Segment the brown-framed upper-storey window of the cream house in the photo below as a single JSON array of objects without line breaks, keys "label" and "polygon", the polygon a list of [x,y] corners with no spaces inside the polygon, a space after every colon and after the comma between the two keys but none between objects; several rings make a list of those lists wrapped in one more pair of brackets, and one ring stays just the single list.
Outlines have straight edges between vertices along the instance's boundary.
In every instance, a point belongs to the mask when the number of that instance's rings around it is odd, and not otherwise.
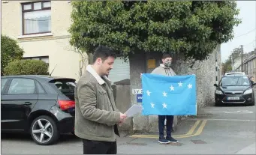
[{"label": "brown-framed upper-storey window of the cream house", "polygon": [[23,35],[51,32],[51,3],[37,1],[23,3]]}]

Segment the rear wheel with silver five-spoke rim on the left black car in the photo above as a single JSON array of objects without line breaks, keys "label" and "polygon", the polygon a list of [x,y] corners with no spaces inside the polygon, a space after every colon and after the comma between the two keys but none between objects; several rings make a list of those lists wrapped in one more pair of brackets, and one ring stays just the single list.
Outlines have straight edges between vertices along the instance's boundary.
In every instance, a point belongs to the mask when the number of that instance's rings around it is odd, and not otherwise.
[{"label": "rear wheel with silver five-spoke rim on the left black car", "polygon": [[59,139],[56,122],[46,115],[35,118],[31,124],[30,134],[38,145],[52,145]]}]

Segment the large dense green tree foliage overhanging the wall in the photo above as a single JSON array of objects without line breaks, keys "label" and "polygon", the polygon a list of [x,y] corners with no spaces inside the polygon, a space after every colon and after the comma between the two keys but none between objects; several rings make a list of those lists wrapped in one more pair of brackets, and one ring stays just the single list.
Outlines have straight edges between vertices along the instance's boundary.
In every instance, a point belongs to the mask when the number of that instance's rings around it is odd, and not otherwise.
[{"label": "large dense green tree foliage overhanging the wall", "polygon": [[72,46],[92,53],[102,44],[124,57],[173,52],[203,60],[233,38],[240,22],[235,1],[72,1],[72,7]]}]

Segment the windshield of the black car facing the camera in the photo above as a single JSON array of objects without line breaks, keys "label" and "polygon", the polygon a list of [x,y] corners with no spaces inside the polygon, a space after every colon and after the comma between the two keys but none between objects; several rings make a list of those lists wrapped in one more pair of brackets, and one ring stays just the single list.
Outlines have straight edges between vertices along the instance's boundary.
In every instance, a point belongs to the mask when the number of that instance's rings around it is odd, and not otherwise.
[{"label": "windshield of the black car facing the camera", "polygon": [[226,76],[221,79],[221,86],[250,85],[246,76]]}]

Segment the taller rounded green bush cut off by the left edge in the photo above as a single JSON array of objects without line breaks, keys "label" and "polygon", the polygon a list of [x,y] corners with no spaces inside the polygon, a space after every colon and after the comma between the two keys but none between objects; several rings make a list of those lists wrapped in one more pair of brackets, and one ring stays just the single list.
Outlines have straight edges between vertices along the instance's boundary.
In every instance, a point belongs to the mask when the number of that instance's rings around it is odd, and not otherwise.
[{"label": "taller rounded green bush cut off by the left edge", "polygon": [[16,40],[1,34],[1,76],[8,63],[23,58],[23,53]]}]

